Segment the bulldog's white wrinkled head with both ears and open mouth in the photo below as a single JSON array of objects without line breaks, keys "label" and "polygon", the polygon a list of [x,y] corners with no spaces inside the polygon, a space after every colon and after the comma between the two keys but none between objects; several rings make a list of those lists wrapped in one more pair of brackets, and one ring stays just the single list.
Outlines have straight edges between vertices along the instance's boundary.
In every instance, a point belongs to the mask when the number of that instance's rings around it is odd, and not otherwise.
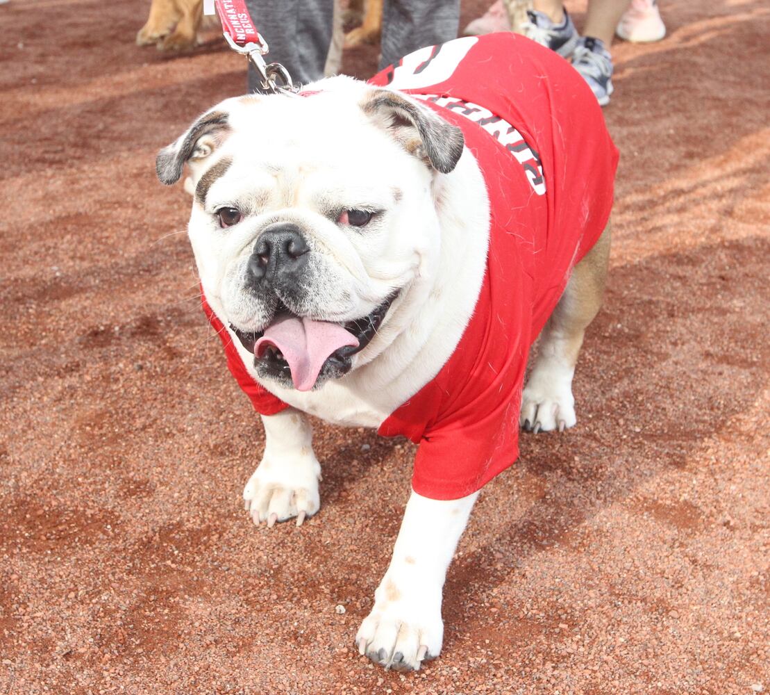
[{"label": "bulldog's white wrinkled head with both ears and open mouth", "polygon": [[157,162],[163,183],[190,165],[209,302],[261,377],[301,391],[350,371],[393,301],[430,281],[436,175],[463,149],[459,129],[403,96],[344,78],[316,89],[227,99]]}]

